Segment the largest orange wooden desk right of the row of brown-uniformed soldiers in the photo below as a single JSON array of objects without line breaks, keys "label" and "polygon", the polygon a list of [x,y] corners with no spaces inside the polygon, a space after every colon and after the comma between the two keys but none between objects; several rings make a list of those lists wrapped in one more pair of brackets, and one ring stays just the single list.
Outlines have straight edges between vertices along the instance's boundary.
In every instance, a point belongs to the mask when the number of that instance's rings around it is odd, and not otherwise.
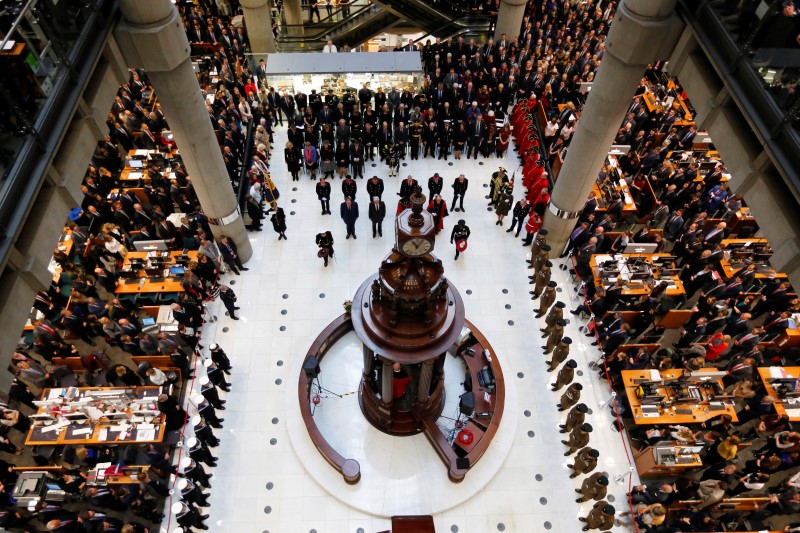
[{"label": "largest orange wooden desk right of the row of brown-uniformed soldiers", "polygon": [[[703,368],[702,371],[704,372],[716,372],[716,368]],[[661,379],[677,379],[681,375],[683,375],[683,370],[681,369],[674,369],[674,370],[664,370],[661,371]],[[734,422],[737,422],[739,419],[736,416],[736,410],[734,409],[733,405],[725,404],[725,409],[720,409],[719,411],[711,411],[708,409],[708,393],[705,391],[704,388],[699,387],[699,390],[702,393],[702,401],[699,403],[686,403],[686,404],[676,404],[672,405],[671,407],[660,407],[659,409],[659,416],[644,416],[642,414],[642,402],[639,398],[636,397],[636,388],[639,386],[637,383],[634,383],[634,380],[650,380],[650,371],[649,370],[623,370],[622,371],[622,383],[625,387],[625,394],[628,396],[628,402],[631,405],[631,410],[633,411],[633,419],[637,425],[652,425],[652,424],[700,424],[702,422],[706,422],[711,420],[712,418],[716,418],[721,415],[730,415]],[[722,384],[721,380],[719,381]],[[666,396],[667,399],[672,399],[674,396],[674,392],[672,389],[667,387],[659,387],[658,394],[662,396]],[[688,409],[691,410],[691,413],[679,413],[677,409]]]}]

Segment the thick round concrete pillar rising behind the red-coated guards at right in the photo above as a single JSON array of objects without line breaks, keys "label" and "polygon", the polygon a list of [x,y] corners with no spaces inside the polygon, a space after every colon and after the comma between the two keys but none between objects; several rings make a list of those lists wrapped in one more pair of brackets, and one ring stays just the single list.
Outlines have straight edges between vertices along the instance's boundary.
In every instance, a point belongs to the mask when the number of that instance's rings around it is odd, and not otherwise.
[{"label": "thick round concrete pillar rising behind the red-coated guards at right", "polygon": [[670,57],[680,38],[683,22],[674,12],[676,1],[624,0],[619,5],[603,64],[581,111],[550,197],[550,212],[544,218],[548,244],[559,253],[586,203],[647,65]]}]

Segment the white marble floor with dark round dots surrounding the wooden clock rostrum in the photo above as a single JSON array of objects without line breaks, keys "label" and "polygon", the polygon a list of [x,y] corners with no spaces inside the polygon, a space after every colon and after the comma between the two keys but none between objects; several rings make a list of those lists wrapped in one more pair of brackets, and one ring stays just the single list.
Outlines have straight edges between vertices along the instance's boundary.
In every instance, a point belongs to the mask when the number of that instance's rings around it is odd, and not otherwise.
[{"label": "white marble floor with dark round dots surrounding the wooden clock rostrum", "polygon": [[[358,239],[345,240],[344,224],[336,215],[343,200],[340,181],[333,182],[334,215],[321,216],[315,182],[307,177],[299,183],[292,182],[286,173],[282,157],[285,141],[285,128],[278,128],[271,170],[281,193],[279,204],[289,215],[289,240],[278,241],[269,221],[263,232],[250,233],[254,254],[247,264],[249,272],[225,276],[226,281],[236,282],[232,287],[239,297],[241,320],[230,320],[219,302],[212,303],[210,307],[219,320],[204,332],[203,343],[218,342],[234,364],[228,409],[220,413],[225,416],[224,428],[216,430],[222,443],[214,449],[219,466],[211,469],[214,478],[207,524],[215,532],[237,533],[383,531],[390,527],[388,518],[359,510],[365,508],[361,498],[370,498],[369,493],[354,491],[346,497],[333,496],[330,486],[317,481],[325,479],[332,469],[319,460],[304,464],[294,442],[290,442],[288,431],[297,423],[297,415],[287,398],[293,397],[288,389],[296,384],[308,346],[342,312],[342,302],[351,298],[364,278],[377,269],[391,247],[393,232],[384,232],[382,239],[371,238],[366,180],[359,180],[357,201],[363,214],[357,223]],[[534,302],[528,295],[528,248],[506,233],[510,217],[506,227],[500,228],[495,225],[495,215],[486,208],[491,173],[499,165],[513,172],[518,167],[515,153],[510,152],[502,161],[482,159],[482,165],[474,159],[406,162],[408,166],[401,167],[398,178],[386,178],[382,163],[367,168],[367,176],[377,173],[384,177],[384,200],[390,212],[396,206],[399,182],[407,174],[426,189],[428,177],[439,172],[445,179],[444,197],[448,203],[455,177],[464,173],[470,180],[466,213],[451,213],[445,220],[434,253],[443,260],[446,276],[461,291],[467,317],[493,344],[506,380],[513,381],[516,391],[506,407],[506,416],[515,417],[516,427],[508,451],[494,459],[498,461],[496,475],[480,490],[470,485],[470,475],[464,483],[451,487],[467,496],[462,503],[434,515],[437,530],[579,531],[577,518],[585,515],[591,504],[574,502],[577,495],[573,489],[581,479],[569,479],[565,466],[568,460],[562,455],[562,435],[557,432],[562,418],[556,410],[559,395],[548,387],[553,375],[545,372],[541,354],[538,328],[542,323],[533,317]],[[518,185],[517,196],[522,193]],[[472,236],[469,249],[454,261],[454,249],[447,237],[459,218],[466,219]],[[392,223],[391,217],[387,218],[387,229]],[[316,257],[314,236],[326,229],[333,232],[336,241],[336,260],[323,268]],[[560,283],[559,298],[573,307],[570,299],[574,293],[563,272],[555,269],[553,279]],[[601,452],[599,468],[612,476],[627,473],[621,437],[611,430],[608,410],[598,407],[598,402],[608,399],[608,386],[598,382],[587,367],[588,362],[597,359],[598,352],[589,346],[591,339],[577,331],[578,325],[572,320],[567,335],[574,341],[572,357],[582,371],[577,378],[585,387],[582,401],[592,409],[588,417],[594,427],[591,445]],[[326,380],[334,384],[333,379]],[[418,464],[420,468],[424,466]],[[329,472],[320,473],[316,470],[320,468]],[[449,483],[440,464],[416,474],[429,476],[435,483]],[[610,494],[620,510],[626,488],[627,482],[611,483]],[[409,502],[403,508],[413,512],[415,506]],[[423,508],[418,511],[427,512]]]}]

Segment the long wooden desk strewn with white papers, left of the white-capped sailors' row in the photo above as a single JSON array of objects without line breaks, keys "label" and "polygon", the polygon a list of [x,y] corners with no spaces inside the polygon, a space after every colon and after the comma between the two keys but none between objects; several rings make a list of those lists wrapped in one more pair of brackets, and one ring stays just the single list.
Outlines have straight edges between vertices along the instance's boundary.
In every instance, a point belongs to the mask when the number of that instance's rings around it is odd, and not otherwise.
[{"label": "long wooden desk strewn with white papers, left of the white-capped sailors' row", "polygon": [[[76,399],[79,397],[86,397],[91,396],[92,392],[94,391],[107,391],[113,389],[124,389],[126,387],[82,387],[78,389],[79,393],[76,396]],[[132,387],[135,391],[136,397],[139,399],[144,398],[153,398],[153,403],[156,402],[156,398],[161,390],[160,387]],[[50,391],[54,390],[63,390],[63,389],[44,389],[42,391],[42,398],[47,398],[50,394]],[[101,403],[101,399],[97,398],[97,403]],[[47,412],[46,409],[40,408],[37,411],[37,414],[43,414]],[[126,411],[130,415],[130,411]],[[43,432],[43,429],[46,429],[47,426],[34,426],[28,431],[28,435],[25,439],[26,446],[63,446],[66,444],[84,444],[84,445],[91,445],[91,444],[142,444],[146,442],[161,442],[164,439],[164,434],[166,432],[166,425],[164,424],[164,416],[159,415],[158,418],[154,419],[153,421],[154,429],[155,429],[155,436],[152,439],[144,439],[139,440],[137,439],[138,432],[140,430],[134,429],[132,425],[129,424],[128,430],[124,433],[117,433],[112,432],[111,428],[116,428],[119,424],[114,424],[110,422],[96,422],[92,424],[83,424],[83,425],[76,425],[72,424],[66,426],[64,428]],[[81,430],[84,428],[89,428],[90,432],[85,435],[76,435],[76,430]],[[106,433],[106,438],[103,439],[101,433]]]}]

